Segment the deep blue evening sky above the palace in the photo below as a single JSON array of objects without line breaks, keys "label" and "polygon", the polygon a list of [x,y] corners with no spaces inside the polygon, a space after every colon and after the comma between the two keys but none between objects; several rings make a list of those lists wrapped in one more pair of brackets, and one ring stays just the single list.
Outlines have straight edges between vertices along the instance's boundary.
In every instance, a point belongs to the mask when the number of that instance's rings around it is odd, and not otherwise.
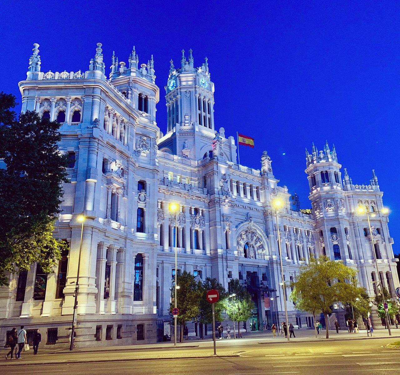
[{"label": "deep blue evening sky above the palace", "polygon": [[327,139],[355,184],[376,170],[400,241],[399,6],[284,3],[3,1],[0,90],[20,100],[34,42],[44,72],[87,70],[102,42],[108,73],[112,50],[127,62],[135,45],[140,64],[154,54],[165,132],[169,60],[178,65],[180,50],[192,48],[195,65],[208,57],[216,128],[255,138],[254,149],[241,148],[242,164],[260,168],[266,149],[275,176],[309,207],[304,148],[314,141],[322,149]]}]

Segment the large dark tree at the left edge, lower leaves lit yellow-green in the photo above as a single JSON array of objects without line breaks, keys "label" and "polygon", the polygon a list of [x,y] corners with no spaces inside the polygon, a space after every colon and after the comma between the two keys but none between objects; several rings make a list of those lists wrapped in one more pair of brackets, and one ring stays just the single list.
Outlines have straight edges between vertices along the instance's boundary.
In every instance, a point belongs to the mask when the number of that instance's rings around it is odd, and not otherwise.
[{"label": "large dark tree at the left edge, lower leaves lit yellow-green", "polygon": [[51,273],[67,247],[52,236],[67,182],[60,124],[30,111],[17,118],[15,106],[14,96],[0,93],[0,285],[8,283],[6,271],[34,262]]}]

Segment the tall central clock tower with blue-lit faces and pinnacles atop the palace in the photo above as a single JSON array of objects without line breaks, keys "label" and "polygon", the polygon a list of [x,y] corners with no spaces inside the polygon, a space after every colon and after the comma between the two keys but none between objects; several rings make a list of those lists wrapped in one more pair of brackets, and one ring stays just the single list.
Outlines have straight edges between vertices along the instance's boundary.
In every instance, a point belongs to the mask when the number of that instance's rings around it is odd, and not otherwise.
[{"label": "tall central clock tower with blue-lit faces and pinnacles atop the palace", "polygon": [[212,150],[214,131],[214,83],[210,80],[208,59],[194,67],[192,50],[188,60],[182,50],[180,68],[170,61],[165,86],[167,132],[158,148],[178,156],[201,159]]}]

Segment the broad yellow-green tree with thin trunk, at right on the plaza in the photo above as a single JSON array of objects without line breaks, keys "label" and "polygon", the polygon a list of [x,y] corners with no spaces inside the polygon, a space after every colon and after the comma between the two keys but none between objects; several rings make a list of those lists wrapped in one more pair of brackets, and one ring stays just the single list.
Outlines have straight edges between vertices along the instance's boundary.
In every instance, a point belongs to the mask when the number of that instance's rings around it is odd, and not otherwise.
[{"label": "broad yellow-green tree with thin trunk, at right on the plaza", "polygon": [[356,274],[357,271],[341,261],[325,256],[318,259],[312,257],[308,264],[300,266],[296,280],[289,283],[293,288],[290,298],[297,309],[324,314],[327,339],[328,314],[332,312],[332,305],[354,302],[364,290],[358,287]]}]

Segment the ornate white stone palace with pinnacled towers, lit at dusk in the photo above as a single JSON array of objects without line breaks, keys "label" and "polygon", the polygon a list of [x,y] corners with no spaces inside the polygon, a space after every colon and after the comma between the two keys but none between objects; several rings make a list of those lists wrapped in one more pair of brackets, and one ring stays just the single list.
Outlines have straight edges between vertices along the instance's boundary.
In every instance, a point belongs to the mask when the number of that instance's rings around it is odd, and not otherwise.
[{"label": "ornate white stone palace with pinnacled towers, lit at dusk", "polygon": [[[312,209],[292,209],[291,194],[279,186],[267,152],[260,156],[260,170],[239,165],[235,138],[224,128],[215,130],[207,58],[196,67],[192,50],[187,59],[182,50],[179,66],[170,62],[163,134],[156,123],[160,91],[152,56],[139,64],[133,48],[125,63],[113,53],[106,76],[98,43],[88,70],[44,73],[38,47],[34,44],[27,78],[19,83],[22,112],[35,110],[62,124],[59,148],[68,155],[69,183],[54,235],[68,241],[70,250],[52,274],[33,264],[9,275],[9,287],[0,288],[0,345],[6,331],[21,324],[28,333],[40,328],[48,345],[68,342],[82,213],[78,345],[161,341],[164,328],[170,329],[175,272],[170,202],[179,205],[178,272],[202,280],[216,277],[226,289],[238,278],[255,303],[248,330],[254,321],[256,329],[276,322],[276,311],[278,320],[284,319],[271,206],[276,197],[284,201],[278,223],[286,281],[310,254],[326,254],[357,269],[371,296],[372,281],[379,279],[395,298],[398,259],[374,171],[367,184],[353,184],[346,169],[342,176],[334,146],[317,150],[313,145],[305,170]],[[366,216],[356,214],[360,204],[371,213],[379,275]],[[280,297],[269,299],[276,294]],[[312,327],[310,313],[296,311],[290,300],[287,304],[290,322]],[[333,321],[343,319],[343,308],[334,307]],[[377,319],[374,323],[381,326]],[[209,335],[211,325],[190,324],[192,335],[200,336],[200,330]]]}]

